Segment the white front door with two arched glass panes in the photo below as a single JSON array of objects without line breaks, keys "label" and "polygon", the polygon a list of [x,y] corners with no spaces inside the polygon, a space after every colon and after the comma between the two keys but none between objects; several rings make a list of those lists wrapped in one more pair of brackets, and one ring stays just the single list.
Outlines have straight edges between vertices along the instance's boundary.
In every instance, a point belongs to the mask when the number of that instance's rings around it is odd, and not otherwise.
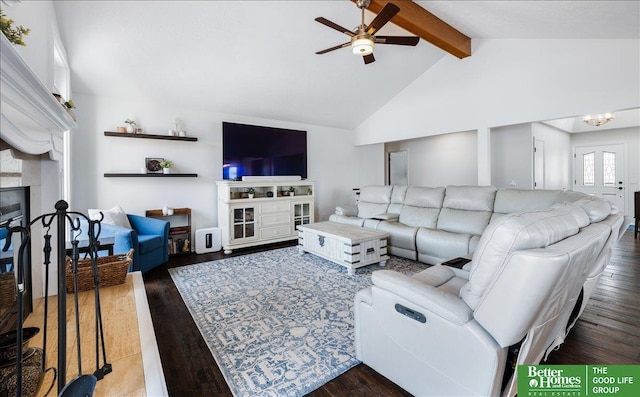
[{"label": "white front door with two arched glass panes", "polygon": [[574,160],[574,190],[607,199],[624,213],[624,145],[576,147]]}]

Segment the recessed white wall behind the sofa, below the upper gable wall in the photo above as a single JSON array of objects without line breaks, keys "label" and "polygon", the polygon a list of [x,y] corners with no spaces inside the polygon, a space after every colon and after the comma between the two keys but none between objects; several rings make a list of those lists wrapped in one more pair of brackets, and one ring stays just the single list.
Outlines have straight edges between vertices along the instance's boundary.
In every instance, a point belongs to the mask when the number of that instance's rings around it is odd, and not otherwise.
[{"label": "recessed white wall behind the sofa, below the upper gable wall", "polygon": [[389,142],[385,150],[407,151],[411,186],[476,185],[476,138],[475,131],[458,132]]}]

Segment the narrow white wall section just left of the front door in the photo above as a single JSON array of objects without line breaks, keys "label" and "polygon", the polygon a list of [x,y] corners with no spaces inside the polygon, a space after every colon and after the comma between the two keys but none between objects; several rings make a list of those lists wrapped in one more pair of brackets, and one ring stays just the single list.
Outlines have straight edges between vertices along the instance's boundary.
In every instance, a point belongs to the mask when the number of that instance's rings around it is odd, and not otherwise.
[{"label": "narrow white wall section just left of the front door", "polygon": [[544,142],[544,188],[570,190],[571,137],[568,132],[541,123],[531,124],[533,139]]}]

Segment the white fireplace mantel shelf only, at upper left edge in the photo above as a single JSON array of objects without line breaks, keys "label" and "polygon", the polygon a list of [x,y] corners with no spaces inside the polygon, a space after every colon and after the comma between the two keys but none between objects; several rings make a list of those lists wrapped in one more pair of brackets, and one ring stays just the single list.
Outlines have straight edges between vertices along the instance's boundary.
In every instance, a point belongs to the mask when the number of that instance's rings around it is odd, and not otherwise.
[{"label": "white fireplace mantel shelf only, at upper left edge", "polygon": [[77,124],[3,34],[0,58],[0,136],[21,152],[60,160],[63,133]]}]

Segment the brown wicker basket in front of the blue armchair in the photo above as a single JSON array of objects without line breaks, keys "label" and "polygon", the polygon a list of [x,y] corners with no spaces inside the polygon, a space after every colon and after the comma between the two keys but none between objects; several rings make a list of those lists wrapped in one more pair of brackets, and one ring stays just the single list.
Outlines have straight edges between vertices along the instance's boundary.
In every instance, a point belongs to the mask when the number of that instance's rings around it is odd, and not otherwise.
[{"label": "brown wicker basket in front of the blue armchair", "polygon": [[[133,258],[133,249],[126,254],[98,257],[98,276],[100,288],[124,283]],[[78,291],[87,291],[95,287],[91,258],[78,259]],[[67,256],[67,293],[73,293],[73,273],[71,258]]]}]

